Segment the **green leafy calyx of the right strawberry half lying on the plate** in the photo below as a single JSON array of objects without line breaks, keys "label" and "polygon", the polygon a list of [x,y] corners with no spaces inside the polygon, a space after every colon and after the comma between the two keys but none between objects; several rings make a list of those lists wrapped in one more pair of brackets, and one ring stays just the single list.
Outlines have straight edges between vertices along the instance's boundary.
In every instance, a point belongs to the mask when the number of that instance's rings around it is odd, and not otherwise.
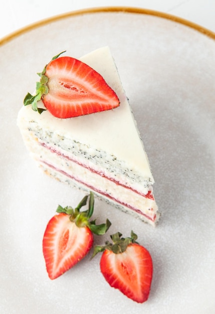
[{"label": "green leafy calyx of the right strawberry half lying on the plate", "polygon": [[120,232],[116,232],[110,235],[112,239],[112,243],[110,241],[106,241],[105,245],[97,245],[94,248],[94,252],[92,258],[99,252],[104,252],[105,250],[112,251],[115,254],[123,253],[126,251],[127,246],[131,243],[137,243],[137,235],[131,231],[131,236],[127,238],[121,238],[122,234]]}]

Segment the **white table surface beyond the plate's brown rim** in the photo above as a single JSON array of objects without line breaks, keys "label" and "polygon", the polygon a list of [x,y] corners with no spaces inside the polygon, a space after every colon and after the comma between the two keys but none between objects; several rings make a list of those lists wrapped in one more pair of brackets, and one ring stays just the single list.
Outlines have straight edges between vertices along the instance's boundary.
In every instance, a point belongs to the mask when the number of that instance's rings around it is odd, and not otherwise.
[{"label": "white table surface beyond the plate's brown rim", "polygon": [[126,6],[161,11],[215,32],[214,0],[8,0],[0,10],[0,38],[37,21],[86,8]]}]

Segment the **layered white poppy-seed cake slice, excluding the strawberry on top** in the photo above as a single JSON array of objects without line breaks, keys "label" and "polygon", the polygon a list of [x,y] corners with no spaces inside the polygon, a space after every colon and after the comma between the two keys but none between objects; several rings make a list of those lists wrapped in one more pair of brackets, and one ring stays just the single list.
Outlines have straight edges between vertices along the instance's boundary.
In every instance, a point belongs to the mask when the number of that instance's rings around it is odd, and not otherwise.
[{"label": "layered white poppy-seed cake slice, excluding the strawberry on top", "polygon": [[[154,179],[110,50],[103,47],[80,60],[102,75],[120,106],[67,119],[23,106],[18,126],[24,142],[47,174],[155,225]],[[39,106],[44,107],[41,100]]]}]

